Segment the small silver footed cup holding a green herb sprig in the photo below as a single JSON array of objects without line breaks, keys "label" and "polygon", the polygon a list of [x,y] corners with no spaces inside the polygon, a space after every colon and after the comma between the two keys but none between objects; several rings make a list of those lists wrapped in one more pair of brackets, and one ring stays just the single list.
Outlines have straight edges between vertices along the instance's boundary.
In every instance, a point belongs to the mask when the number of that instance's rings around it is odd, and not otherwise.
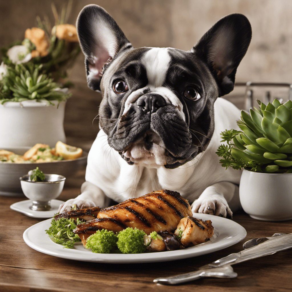
[{"label": "small silver footed cup holding a green herb sprig", "polygon": [[32,200],[29,207],[34,211],[48,211],[51,209],[50,201],[61,194],[65,177],[58,174],[45,174],[46,181],[29,181],[29,174],[20,177],[20,184],[25,197]]}]

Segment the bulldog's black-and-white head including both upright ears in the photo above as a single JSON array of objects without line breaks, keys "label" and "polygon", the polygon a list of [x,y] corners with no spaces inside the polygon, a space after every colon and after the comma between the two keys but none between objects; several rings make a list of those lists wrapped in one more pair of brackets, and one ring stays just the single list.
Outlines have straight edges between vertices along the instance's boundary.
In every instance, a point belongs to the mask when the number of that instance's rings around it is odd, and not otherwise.
[{"label": "bulldog's black-and-white head including both upright ears", "polygon": [[219,20],[191,51],[133,48],[102,8],[86,6],[77,30],[88,85],[100,90],[100,127],[128,164],[178,167],[204,151],[213,104],[234,86],[251,39],[239,14]]}]

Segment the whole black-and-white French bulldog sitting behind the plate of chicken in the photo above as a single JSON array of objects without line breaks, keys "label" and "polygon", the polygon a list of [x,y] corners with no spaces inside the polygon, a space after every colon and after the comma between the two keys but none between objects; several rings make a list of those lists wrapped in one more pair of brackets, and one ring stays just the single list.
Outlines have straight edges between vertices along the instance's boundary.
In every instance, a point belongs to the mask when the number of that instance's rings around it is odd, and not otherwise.
[{"label": "whole black-and-white French bulldog sitting behind the plate of chicken", "polygon": [[223,168],[215,152],[220,132],[237,129],[240,117],[220,96],[234,88],[251,41],[248,19],[225,16],[190,51],[133,48],[97,5],[82,9],[76,27],[88,86],[102,93],[100,131],[81,194],[59,212],[169,189],[193,212],[231,217],[240,206],[241,172]]}]

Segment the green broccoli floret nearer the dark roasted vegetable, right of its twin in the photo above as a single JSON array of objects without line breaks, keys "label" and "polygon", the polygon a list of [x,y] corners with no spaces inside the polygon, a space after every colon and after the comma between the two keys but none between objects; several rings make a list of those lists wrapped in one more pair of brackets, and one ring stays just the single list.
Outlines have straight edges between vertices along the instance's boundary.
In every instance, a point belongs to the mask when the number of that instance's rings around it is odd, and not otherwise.
[{"label": "green broccoli floret nearer the dark roasted vegetable, right of its twin", "polygon": [[146,250],[144,235],[143,230],[127,227],[117,235],[117,246],[122,253],[143,253]]}]

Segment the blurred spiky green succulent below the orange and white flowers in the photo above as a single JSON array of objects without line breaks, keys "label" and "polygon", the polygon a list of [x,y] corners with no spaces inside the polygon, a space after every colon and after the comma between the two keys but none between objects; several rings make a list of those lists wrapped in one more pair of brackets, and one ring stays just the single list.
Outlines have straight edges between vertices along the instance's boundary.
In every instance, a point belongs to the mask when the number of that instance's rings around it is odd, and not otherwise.
[{"label": "blurred spiky green succulent below the orange and white flowers", "polygon": [[[0,102],[41,100],[63,101],[70,94],[58,91],[59,84],[42,73],[42,65],[32,62],[8,67],[7,74],[0,81]],[[13,98],[11,98],[13,96]]]}]

